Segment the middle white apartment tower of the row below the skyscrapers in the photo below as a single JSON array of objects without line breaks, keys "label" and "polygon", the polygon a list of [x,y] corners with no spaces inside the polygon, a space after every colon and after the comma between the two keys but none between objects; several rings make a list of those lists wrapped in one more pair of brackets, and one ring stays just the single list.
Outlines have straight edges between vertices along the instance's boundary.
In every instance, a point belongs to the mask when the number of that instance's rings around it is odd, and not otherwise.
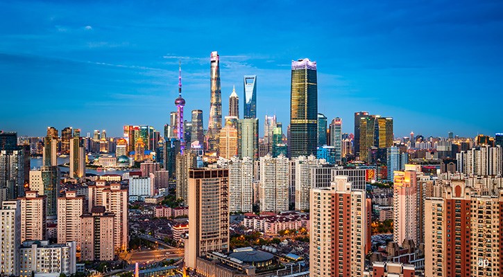
[{"label": "middle white apartment tower of the row below the skyscrapers", "polygon": [[284,155],[260,157],[260,211],[288,211],[289,160]]}]

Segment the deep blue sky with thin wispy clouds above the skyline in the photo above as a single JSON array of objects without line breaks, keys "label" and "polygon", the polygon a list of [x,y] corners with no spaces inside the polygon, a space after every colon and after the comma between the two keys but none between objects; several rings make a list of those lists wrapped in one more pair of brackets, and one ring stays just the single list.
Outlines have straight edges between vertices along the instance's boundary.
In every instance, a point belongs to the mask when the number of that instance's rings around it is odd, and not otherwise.
[{"label": "deep blue sky with thin wispy clouds above the skyline", "polygon": [[207,127],[219,51],[224,116],[256,74],[259,124],[286,126],[291,60],[309,57],[318,111],[344,132],[355,111],[393,116],[395,136],[503,131],[502,1],[352,2],[1,1],[0,129],[162,132],[178,60],[186,114],[203,109]]}]

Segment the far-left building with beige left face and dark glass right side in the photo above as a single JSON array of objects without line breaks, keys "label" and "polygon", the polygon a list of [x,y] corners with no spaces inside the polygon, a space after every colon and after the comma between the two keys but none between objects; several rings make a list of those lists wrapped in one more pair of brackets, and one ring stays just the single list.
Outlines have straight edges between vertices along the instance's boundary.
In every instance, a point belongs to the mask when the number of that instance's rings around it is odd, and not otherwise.
[{"label": "far-left building with beige left face and dark glass right side", "polygon": [[40,170],[30,171],[30,190],[46,196],[46,216],[56,217],[56,200],[60,191],[60,168],[42,166]]}]

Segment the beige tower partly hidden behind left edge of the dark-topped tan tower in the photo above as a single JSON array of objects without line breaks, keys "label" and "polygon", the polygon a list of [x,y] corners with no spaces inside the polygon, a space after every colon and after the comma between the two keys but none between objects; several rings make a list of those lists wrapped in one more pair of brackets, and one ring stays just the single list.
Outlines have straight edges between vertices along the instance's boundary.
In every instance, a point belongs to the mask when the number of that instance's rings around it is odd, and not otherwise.
[{"label": "beige tower partly hidden behind left edge of the dark-topped tan tower", "polygon": [[176,199],[189,205],[189,170],[197,168],[196,154],[185,152],[176,156]]}]

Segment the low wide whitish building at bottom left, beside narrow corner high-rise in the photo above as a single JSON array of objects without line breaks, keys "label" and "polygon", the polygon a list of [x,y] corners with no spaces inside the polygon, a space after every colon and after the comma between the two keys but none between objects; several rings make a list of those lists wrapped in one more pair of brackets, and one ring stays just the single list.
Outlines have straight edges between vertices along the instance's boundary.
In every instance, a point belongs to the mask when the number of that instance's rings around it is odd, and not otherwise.
[{"label": "low wide whitish building at bottom left, beside narrow corner high-rise", "polygon": [[76,242],[29,240],[19,249],[19,276],[71,276],[77,272],[76,261]]}]

